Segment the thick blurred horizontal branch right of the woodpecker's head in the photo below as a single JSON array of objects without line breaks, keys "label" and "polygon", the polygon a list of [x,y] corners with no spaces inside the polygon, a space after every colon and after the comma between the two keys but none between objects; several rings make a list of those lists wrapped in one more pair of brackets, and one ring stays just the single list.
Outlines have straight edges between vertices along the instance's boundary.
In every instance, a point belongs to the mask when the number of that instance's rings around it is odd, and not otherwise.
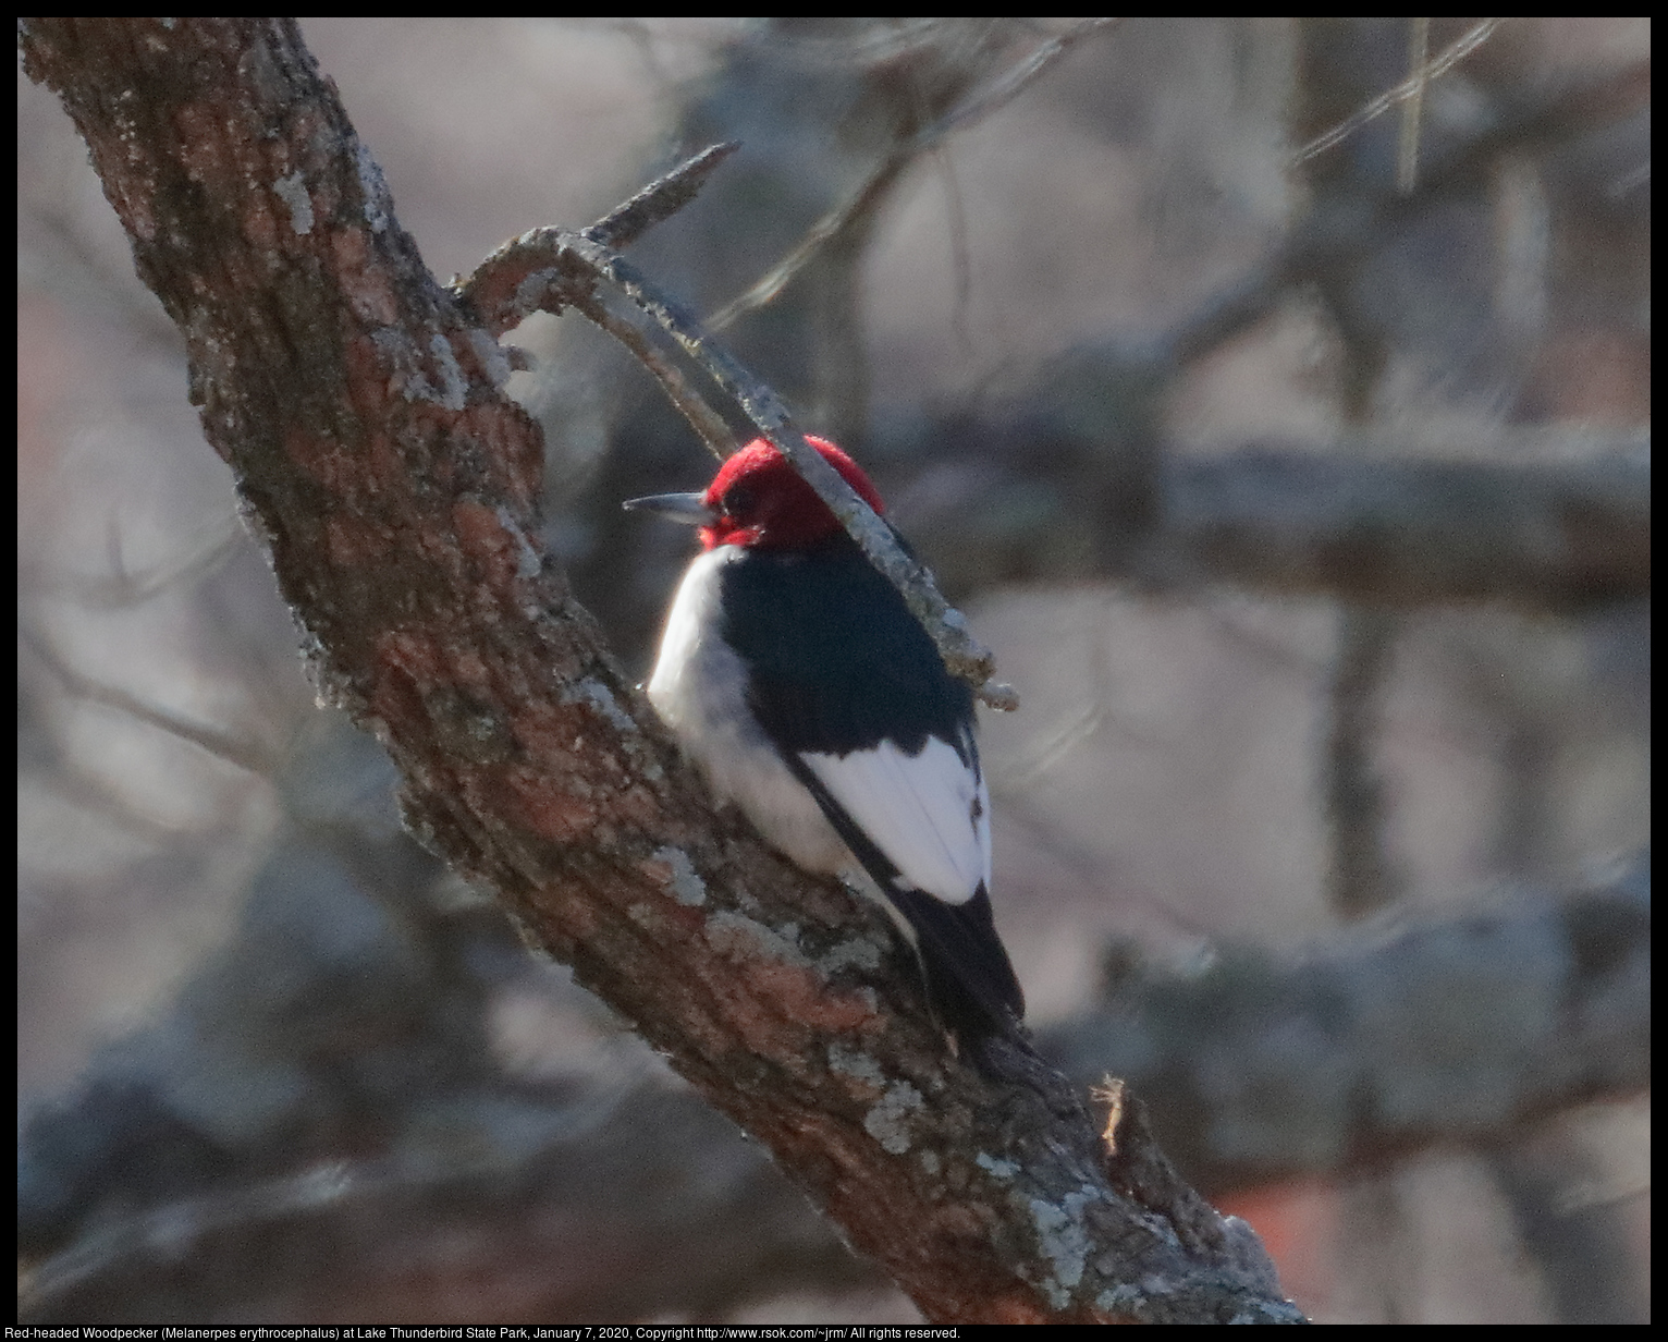
[{"label": "thick blurred horizontal branch right of the woodpecker's head", "polygon": [[[1648,598],[1648,439],[1583,441],[1583,459],[1521,464],[1545,446],[1525,436],[1515,461],[1475,459],[1486,444],[1423,444],[1429,454],[1416,456],[1386,439],[1171,452],[1156,521],[1128,531],[1093,492],[1111,446],[1048,422],[942,424],[889,442],[887,456],[954,462],[959,484],[941,481],[907,519],[951,591],[1111,578],[1561,613]],[[1032,509],[1022,532],[1001,507],[1019,487]]]}]

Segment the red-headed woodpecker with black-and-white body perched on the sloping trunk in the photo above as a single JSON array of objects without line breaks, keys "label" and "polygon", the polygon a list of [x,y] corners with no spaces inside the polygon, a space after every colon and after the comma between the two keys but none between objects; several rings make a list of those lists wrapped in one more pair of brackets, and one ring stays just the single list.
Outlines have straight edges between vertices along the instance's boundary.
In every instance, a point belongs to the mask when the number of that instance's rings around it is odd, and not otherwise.
[{"label": "red-headed woodpecker with black-and-white body perched on the sloping trunk", "polygon": [[[812,447],[881,512],[839,447]],[[991,920],[991,805],[972,693],[892,584],[766,439],[702,494],[632,499],[701,527],[649,699],[772,846],[877,900],[959,1038],[1011,1033],[1019,980]]]}]

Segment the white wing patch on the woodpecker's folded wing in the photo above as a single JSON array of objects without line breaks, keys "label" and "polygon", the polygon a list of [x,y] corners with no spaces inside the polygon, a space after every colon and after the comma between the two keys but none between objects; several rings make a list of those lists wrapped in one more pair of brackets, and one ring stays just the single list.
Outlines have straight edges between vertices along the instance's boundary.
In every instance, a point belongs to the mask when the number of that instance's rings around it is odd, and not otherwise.
[{"label": "white wing patch on the woodpecker's folded wing", "polygon": [[961,905],[989,886],[991,800],[947,741],[927,738],[921,754],[881,741],[799,758],[916,890]]}]

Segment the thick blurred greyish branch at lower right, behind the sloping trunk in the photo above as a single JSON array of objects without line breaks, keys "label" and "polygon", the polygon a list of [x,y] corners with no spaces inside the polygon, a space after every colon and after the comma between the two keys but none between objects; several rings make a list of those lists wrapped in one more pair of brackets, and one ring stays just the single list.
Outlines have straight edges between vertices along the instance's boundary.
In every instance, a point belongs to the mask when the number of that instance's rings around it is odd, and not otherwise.
[{"label": "thick blurred greyish branch at lower right, behind the sloping trunk", "polygon": [[1044,1050],[1073,1077],[1124,1077],[1214,1192],[1495,1143],[1650,1090],[1650,883],[1645,855],[1296,961],[1224,945],[1183,976],[1121,960],[1106,1001]]}]

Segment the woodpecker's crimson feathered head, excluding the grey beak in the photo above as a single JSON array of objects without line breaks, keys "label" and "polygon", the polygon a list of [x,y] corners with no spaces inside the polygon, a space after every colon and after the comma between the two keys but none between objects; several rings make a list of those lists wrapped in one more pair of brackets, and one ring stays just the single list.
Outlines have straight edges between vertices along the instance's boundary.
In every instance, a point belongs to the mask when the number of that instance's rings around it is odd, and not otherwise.
[{"label": "woodpecker's crimson feathered head, excluding the grey beak", "polygon": [[[844,476],[869,507],[882,511],[881,494],[862,467],[832,442],[806,436],[822,459]],[[839,519],[767,439],[756,437],[724,462],[701,496],[717,514],[701,527],[701,544],[804,549],[841,531]]]}]

